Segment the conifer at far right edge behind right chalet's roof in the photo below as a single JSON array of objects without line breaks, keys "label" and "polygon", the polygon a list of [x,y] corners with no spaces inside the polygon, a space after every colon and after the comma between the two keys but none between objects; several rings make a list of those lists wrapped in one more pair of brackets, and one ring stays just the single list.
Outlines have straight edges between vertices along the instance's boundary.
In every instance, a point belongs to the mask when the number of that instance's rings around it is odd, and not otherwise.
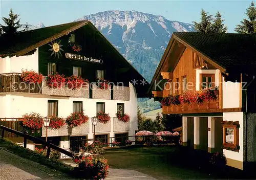
[{"label": "conifer at far right edge behind right chalet's roof", "polygon": [[242,34],[253,34],[256,33],[256,7],[254,2],[246,8],[246,13],[248,19],[243,19],[241,25],[237,25],[234,31]]}]

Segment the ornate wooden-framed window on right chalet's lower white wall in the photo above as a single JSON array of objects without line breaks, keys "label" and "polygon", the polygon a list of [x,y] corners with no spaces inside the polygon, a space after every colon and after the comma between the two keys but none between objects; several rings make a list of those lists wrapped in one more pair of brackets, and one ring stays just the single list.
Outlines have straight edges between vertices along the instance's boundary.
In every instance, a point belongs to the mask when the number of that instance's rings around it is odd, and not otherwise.
[{"label": "ornate wooden-framed window on right chalet's lower white wall", "polygon": [[223,121],[223,148],[239,151],[239,121]]}]

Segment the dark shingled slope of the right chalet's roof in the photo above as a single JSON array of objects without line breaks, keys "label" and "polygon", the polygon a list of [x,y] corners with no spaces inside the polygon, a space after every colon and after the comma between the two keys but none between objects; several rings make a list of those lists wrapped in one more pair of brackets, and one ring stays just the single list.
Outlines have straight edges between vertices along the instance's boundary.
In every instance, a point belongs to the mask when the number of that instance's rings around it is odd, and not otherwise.
[{"label": "dark shingled slope of the right chalet's roof", "polygon": [[174,32],[227,71],[256,70],[256,35],[232,33]]}]

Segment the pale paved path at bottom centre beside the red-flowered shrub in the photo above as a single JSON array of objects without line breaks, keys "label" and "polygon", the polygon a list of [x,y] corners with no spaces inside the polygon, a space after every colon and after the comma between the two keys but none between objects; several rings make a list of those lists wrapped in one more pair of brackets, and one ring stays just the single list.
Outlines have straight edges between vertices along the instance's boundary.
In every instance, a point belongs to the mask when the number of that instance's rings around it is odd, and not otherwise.
[{"label": "pale paved path at bottom centre beside the red-flowered shrub", "polygon": [[[66,163],[66,162],[65,162]],[[74,163],[66,163],[68,165],[71,165],[73,167],[76,166]],[[108,179],[120,179],[120,180],[157,180],[154,177],[148,176],[146,174],[140,173],[135,170],[128,170],[128,169],[109,169],[109,175],[106,177],[106,180]]]}]

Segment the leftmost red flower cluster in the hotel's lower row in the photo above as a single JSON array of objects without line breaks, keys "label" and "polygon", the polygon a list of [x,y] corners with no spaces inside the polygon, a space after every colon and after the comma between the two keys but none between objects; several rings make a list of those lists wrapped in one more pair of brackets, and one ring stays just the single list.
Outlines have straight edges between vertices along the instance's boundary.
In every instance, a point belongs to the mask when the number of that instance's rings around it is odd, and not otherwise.
[{"label": "leftmost red flower cluster in the hotel's lower row", "polygon": [[38,113],[30,113],[22,116],[22,126],[30,129],[40,129],[44,121]]}]

